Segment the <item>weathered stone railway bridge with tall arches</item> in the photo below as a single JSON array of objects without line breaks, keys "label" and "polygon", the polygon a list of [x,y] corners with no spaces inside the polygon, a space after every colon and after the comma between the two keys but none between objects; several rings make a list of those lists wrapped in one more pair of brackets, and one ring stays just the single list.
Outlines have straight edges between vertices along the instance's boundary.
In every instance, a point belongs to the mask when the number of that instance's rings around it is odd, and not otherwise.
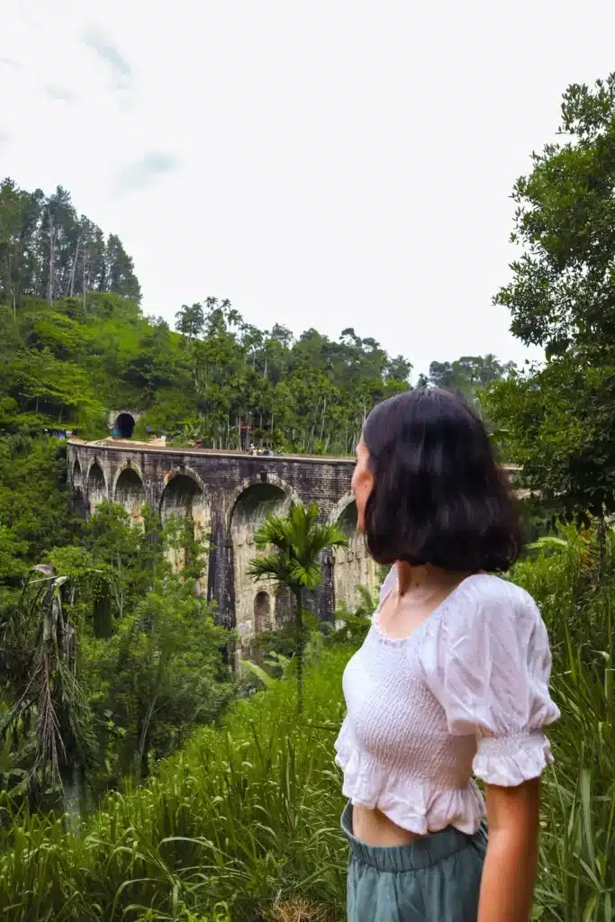
[{"label": "weathered stone railway bridge with tall arches", "polygon": [[[84,514],[103,499],[140,518],[147,502],[162,520],[172,514],[194,523],[195,537],[209,543],[200,589],[215,601],[220,623],[247,640],[290,617],[288,594],[247,575],[255,556],[254,531],[267,514],[283,513],[293,500],[315,502],[321,520],[337,522],[349,548],[325,553],[323,582],[310,605],[323,620],[342,606],[352,609],[360,585],[374,590],[377,565],[356,530],[350,494],[353,462],[305,455],[253,456],[204,450],[173,450],[128,443],[68,443],[68,478]],[[181,566],[181,560],[175,560]]]}]

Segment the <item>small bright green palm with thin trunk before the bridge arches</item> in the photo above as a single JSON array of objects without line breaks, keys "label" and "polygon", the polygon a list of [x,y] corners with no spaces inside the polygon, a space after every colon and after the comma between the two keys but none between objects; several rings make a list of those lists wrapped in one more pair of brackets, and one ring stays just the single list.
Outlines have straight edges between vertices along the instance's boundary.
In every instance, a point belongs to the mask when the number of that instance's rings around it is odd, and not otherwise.
[{"label": "small bright green palm with thin trunk before the bridge arches", "polygon": [[337,525],[320,525],[318,506],[293,503],[287,516],[267,515],[254,535],[263,557],[250,562],[248,575],[254,582],[273,580],[278,586],[288,586],[295,598],[295,632],[297,637],[297,707],[303,710],[303,596],[321,582],[320,554],[325,548],[348,547],[348,538]]}]

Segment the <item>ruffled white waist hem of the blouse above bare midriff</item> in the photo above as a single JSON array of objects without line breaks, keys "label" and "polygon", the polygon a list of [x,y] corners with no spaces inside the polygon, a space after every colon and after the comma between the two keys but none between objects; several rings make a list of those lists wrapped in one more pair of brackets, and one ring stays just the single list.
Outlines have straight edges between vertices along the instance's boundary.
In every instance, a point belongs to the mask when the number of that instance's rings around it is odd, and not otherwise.
[{"label": "ruffled white waist hem of the blouse above bare midriff", "polygon": [[[422,778],[381,772],[371,760],[361,759],[356,750],[346,749],[347,739],[348,732],[342,728],[336,742],[336,763],[344,772],[342,793],[354,806],[377,808],[397,826],[419,835],[447,826],[468,835],[479,829],[485,805],[473,781],[466,787],[439,790]],[[398,793],[401,791],[403,796]]]}]

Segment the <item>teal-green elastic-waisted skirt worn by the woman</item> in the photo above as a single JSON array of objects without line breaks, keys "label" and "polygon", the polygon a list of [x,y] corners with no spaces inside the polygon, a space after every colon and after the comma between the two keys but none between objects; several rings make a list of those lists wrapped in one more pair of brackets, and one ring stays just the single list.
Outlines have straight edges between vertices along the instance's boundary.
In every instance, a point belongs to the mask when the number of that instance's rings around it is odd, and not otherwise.
[{"label": "teal-green elastic-waisted skirt worn by the woman", "polygon": [[466,835],[448,826],[411,845],[364,845],[342,815],[350,843],[348,922],[476,922],[487,827]]}]

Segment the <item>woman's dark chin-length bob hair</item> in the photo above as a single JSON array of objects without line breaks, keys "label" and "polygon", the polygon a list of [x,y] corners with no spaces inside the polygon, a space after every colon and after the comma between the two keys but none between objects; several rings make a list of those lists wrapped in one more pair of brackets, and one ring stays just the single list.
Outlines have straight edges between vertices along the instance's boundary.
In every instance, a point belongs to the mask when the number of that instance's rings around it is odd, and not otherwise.
[{"label": "woman's dark chin-length bob hair", "polygon": [[466,401],[421,387],[384,400],[363,428],[373,490],[365,537],[379,563],[508,570],[523,526],[508,478]]}]

